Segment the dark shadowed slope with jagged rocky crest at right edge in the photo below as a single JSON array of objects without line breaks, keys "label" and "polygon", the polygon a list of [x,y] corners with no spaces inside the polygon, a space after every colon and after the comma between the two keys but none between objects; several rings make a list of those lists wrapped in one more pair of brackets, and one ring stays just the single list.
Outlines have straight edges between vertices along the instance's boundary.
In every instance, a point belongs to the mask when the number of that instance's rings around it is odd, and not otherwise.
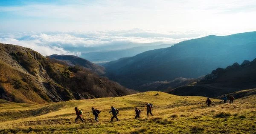
[{"label": "dark shadowed slope with jagged rocky crest at right edge", "polygon": [[227,68],[217,68],[198,83],[190,86],[181,86],[169,91],[176,95],[198,95],[218,97],[222,94],[232,93],[256,87],[256,59],[245,60],[241,65],[234,63]]}]

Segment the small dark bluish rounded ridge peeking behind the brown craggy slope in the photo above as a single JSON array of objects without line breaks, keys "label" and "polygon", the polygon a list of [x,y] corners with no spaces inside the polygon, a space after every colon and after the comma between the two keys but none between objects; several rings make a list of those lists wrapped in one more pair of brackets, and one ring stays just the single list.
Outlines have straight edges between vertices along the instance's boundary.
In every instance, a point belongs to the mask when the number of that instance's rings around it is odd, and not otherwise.
[{"label": "small dark bluish rounded ridge peeking behind the brown craggy slope", "polygon": [[95,72],[96,74],[99,74],[99,75],[105,74],[105,68],[104,67],[96,65],[94,63],[91,63],[88,60],[85,60],[83,58],[80,58],[80,57],[77,57],[77,56],[74,56],[74,55],[53,54],[53,55],[50,55],[50,56],[47,56],[47,57],[65,61],[70,66],[75,66],[75,65],[83,66],[85,68],[88,68],[90,71],[93,71],[93,72]]}]

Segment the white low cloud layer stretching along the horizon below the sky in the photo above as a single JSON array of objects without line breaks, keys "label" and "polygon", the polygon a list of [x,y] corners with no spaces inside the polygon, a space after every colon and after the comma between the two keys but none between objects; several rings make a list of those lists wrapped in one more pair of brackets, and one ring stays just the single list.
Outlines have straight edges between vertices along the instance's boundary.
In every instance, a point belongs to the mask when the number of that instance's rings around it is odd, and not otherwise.
[{"label": "white low cloud layer stretching along the horizon below the sky", "polygon": [[[220,34],[215,32],[216,34]],[[86,51],[101,51],[178,43],[212,33],[203,31],[145,31],[132,29],[126,31],[56,31],[0,33],[0,43],[15,44],[31,48],[43,55],[70,54],[79,56]],[[152,43],[152,44],[149,44]],[[127,45],[129,44],[129,45]],[[92,49],[94,48],[94,49]]]}]

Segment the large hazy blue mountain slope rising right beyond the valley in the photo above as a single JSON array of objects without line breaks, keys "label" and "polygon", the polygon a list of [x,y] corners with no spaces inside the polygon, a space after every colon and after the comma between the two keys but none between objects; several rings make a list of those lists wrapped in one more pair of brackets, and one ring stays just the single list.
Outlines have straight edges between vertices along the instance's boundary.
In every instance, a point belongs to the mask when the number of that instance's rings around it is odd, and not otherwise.
[{"label": "large hazy blue mountain slope rising right beyond the valley", "polygon": [[197,78],[256,57],[256,32],[210,35],[105,64],[107,76],[128,88],[177,77]]}]

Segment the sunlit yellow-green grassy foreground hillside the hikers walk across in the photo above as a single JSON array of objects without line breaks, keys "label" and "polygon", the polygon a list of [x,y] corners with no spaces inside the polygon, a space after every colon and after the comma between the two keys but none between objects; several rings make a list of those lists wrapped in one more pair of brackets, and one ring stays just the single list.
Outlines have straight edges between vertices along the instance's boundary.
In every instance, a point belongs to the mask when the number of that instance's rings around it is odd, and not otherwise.
[{"label": "sunlit yellow-green grassy foreground hillside the hikers walk across", "polygon": [[[144,92],[125,97],[71,100],[44,105],[0,101],[0,133],[256,133],[255,95],[235,100],[233,104],[205,97],[180,97],[163,92]],[[146,117],[145,103],[153,103],[154,117]],[[110,123],[110,106],[119,109],[120,121]],[[76,118],[74,107],[84,109],[84,123]],[[93,120],[90,108],[100,113],[100,123]],[[134,120],[134,107],[142,110]]]}]

